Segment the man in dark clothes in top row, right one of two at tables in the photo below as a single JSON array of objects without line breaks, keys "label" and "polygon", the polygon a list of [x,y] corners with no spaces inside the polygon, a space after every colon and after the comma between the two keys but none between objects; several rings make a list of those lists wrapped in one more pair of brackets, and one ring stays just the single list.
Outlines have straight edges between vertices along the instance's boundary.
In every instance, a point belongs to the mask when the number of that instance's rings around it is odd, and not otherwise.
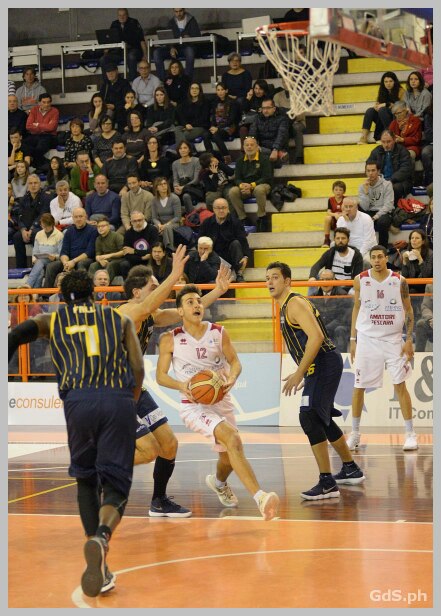
[{"label": "man in dark clothes in top row, right one of two at tables", "polygon": [[[173,9],[174,17],[170,19],[168,27],[173,30],[173,38],[194,38],[201,36],[199,24],[193,15],[187,13],[185,9]],[[153,61],[156,66],[156,72],[161,81],[165,80],[164,60],[166,58],[176,59],[178,55],[185,56],[185,72],[193,79],[193,67],[194,67],[194,47],[193,45],[173,45],[173,47],[167,48],[165,45],[154,47],[153,49]]]}]

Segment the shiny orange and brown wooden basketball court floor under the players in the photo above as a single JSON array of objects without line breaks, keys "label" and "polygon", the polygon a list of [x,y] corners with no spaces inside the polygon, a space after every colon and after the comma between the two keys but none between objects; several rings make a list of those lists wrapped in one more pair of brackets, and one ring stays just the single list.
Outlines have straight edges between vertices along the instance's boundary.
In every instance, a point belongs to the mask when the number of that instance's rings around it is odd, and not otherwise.
[{"label": "shiny orange and brown wooden basketball court floor under the players", "polygon": [[299,430],[243,429],[262,488],[281,499],[279,519],[264,522],[234,475],[239,508],[222,508],[204,481],[215,454],[176,431],[168,493],[193,516],[149,518],[153,465],[136,467],[108,557],[116,588],[96,599],[79,587],[84,538],[63,430],[10,432],[10,608],[433,606],[431,432],[419,434],[418,452],[402,451],[401,432],[364,435],[355,456],[364,484],[307,502],[299,492],[317,474]]}]

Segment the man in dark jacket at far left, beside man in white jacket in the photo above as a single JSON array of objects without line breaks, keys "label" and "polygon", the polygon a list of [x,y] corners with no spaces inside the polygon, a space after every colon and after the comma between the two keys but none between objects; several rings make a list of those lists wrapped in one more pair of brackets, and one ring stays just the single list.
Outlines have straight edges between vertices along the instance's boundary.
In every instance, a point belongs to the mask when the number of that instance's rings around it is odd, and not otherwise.
[{"label": "man in dark jacket at far left, beside man in white jacket", "polygon": [[16,267],[27,266],[26,245],[34,244],[39,231],[42,214],[49,212],[49,197],[41,188],[41,180],[36,174],[28,177],[28,190],[16,208],[18,231],[14,234]]}]

